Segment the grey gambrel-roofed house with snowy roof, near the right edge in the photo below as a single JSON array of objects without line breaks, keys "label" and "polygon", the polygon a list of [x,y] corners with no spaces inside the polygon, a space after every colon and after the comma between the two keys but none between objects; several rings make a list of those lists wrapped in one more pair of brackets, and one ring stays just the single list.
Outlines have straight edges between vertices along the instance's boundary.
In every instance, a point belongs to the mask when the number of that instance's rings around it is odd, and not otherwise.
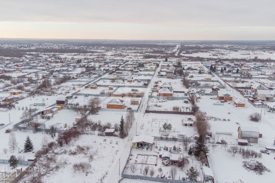
[{"label": "grey gambrel-roofed house with snowy roof, near the right edge", "polygon": [[238,139],[245,139],[249,143],[258,143],[260,137],[258,127],[251,126],[239,126],[238,128]]}]

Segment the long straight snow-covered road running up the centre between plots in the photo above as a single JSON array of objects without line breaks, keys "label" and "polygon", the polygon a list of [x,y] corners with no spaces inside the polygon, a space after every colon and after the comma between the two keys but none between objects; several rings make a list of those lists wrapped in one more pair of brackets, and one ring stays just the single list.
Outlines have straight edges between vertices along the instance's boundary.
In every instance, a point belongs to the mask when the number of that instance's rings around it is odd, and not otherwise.
[{"label": "long straight snow-covered road running up the centre between plots", "polygon": [[[159,65],[162,65],[162,61],[160,62]],[[160,70],[160,66],[157,68],[157,71],[152,77],[150,84],[148,85],[146,91],[144,92],[144,98],[140,104],[141,107],[139,108],[137,114],[135,115],[136,124],[133,125],[128,136],[125,138],[124,149],[119,152],[119,158],[117,158],[114,161],[113,165],[111,166],[109,170],[109,175],[107,176],[105,182],[108,182],[108,183],[118,182],[118,180],[121,178],[121,172],[130,154],[132,139],[136,135],[135,133],[137,130],[137,126],[140,126],[142,124],[145,109],[147,108],[148,95],[149,95],[149,92],[151,91],[152,86],[154,85],[153,81],[156,80],[159,70]],[[119,167],[119,159],[120,159],[120,167]]]}]

